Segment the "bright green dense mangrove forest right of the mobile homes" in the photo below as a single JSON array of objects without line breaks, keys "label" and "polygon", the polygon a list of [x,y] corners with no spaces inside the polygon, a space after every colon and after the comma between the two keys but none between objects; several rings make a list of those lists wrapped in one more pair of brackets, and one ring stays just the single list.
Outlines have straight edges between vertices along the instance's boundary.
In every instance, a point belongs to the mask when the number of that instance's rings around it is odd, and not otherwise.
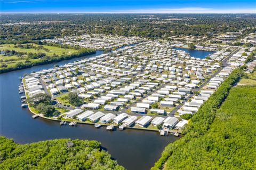
[{"label": "bright green dense mangrove forest right of the mobile homes", "polygon": [[225,80],[151,169],[255,169],[256,86],[232,87],[240,76]]}]

